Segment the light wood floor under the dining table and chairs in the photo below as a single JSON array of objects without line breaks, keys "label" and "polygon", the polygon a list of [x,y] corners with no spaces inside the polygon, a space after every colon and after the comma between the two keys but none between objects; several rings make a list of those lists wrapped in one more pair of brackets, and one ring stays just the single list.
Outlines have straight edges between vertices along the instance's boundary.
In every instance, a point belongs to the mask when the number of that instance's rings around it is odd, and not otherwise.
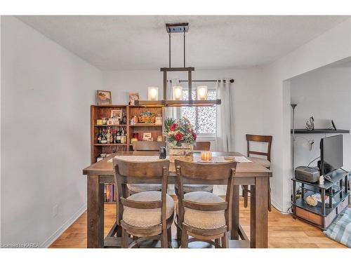
[{"label": "light wood floor under the dining table and chairs", "polygon": [[[240,200],[240,224],[250,234],[249,207]],[[105,235],[115,222],[116,206],[105,205]],[[172,235],[175,233],[174,228]],[[324,236],[317,227],[312,227],[291,215],[283,215],[272,208],[268,217],[269,248],[346,248]],[[86,248],[86,212],[79,217],[52,245],[51,248]]]}]

